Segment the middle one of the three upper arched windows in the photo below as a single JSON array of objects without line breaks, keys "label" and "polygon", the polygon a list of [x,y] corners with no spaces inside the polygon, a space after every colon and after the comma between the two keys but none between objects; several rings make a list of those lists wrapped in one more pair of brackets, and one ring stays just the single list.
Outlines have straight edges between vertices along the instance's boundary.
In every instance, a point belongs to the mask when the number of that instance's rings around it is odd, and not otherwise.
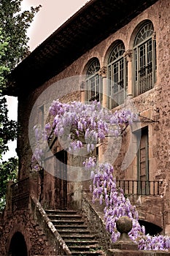
[{"label": "middle one of the three upper arched windows", "polygon": [[111,109],[123,104],[125,100],[127,67],[123,58],[124,52],[123,42],[119,42],[112,49],[108,59],[108,96]]}]

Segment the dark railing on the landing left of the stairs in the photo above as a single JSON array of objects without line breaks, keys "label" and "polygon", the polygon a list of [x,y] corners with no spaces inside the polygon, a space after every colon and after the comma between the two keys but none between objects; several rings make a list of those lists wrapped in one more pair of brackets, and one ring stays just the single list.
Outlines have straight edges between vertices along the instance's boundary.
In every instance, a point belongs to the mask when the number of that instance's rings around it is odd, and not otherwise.
[{"label": "dark railing on the landing left of the stairs", "polygon": [[11,186],[12,211],[28,208],[29,203],[29,178],[18,181]]}]

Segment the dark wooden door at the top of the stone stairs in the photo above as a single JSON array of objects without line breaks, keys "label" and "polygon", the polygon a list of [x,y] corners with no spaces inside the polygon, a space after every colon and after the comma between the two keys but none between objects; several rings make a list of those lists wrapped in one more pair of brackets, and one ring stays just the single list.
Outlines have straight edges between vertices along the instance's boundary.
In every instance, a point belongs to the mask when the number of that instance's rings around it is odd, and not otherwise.
[{"label": "dark wooden door at the top of the stone stairs", "polygon": [[62,150],[55,154],[55,205],[56,208],[67,208],[67,152]]}]

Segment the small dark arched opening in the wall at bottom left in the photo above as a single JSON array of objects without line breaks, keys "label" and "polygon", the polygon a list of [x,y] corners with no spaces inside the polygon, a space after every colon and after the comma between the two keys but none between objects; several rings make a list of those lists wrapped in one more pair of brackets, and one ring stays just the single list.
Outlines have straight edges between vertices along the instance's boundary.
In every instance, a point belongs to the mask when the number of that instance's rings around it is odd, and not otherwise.
[{"label": "small dark arched opening in the wall at bottom left", "polygon": [[12,236],[9,246],[9,256],[28,256],[26,241],[20,232]]}]

